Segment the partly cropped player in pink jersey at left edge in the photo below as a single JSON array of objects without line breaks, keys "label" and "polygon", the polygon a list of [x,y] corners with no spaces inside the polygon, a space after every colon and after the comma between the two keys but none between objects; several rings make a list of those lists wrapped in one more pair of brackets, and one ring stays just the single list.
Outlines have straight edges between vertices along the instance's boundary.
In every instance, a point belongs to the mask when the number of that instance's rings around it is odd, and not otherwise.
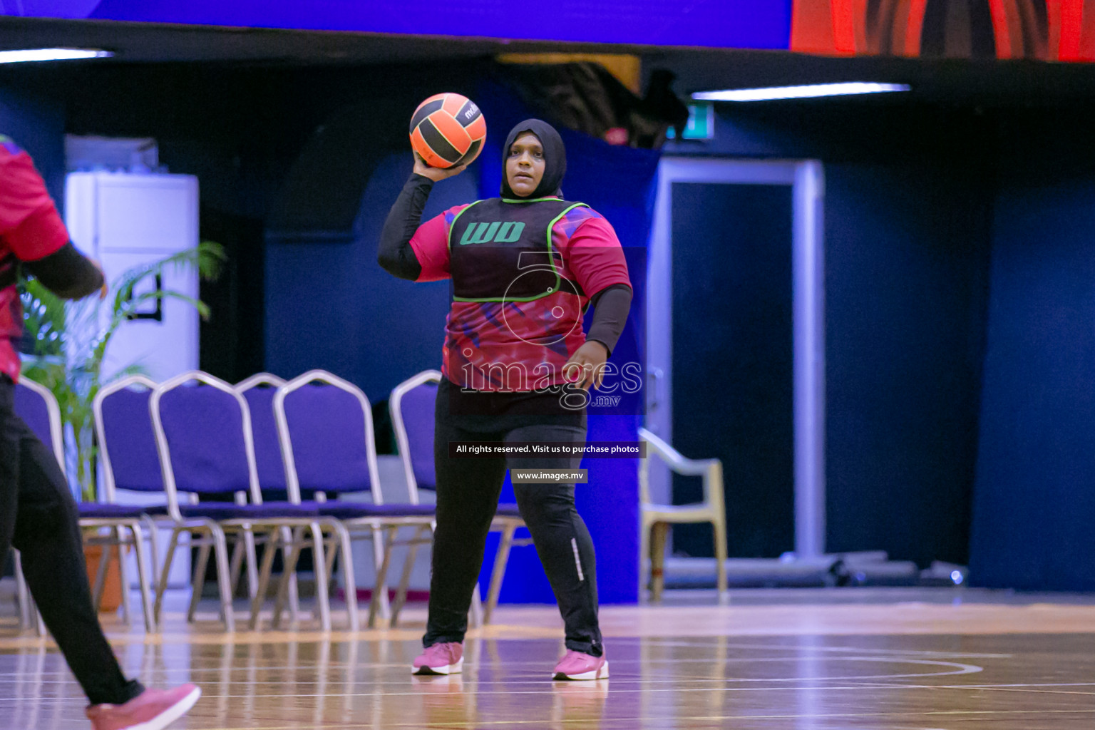
[{"label": "partly cropped player in pink jersey at left edge", "polygon": [[0,566],[14,545],[42,618],[91,703],[93,730],[162,730],[189,711],[201,690],[146,690],[126,680],[103,635],[76,502],[53,452],[15,415],[21,263],[64,299],[106,296],[102,271],[69,242],[31,158],[0,137]]}]

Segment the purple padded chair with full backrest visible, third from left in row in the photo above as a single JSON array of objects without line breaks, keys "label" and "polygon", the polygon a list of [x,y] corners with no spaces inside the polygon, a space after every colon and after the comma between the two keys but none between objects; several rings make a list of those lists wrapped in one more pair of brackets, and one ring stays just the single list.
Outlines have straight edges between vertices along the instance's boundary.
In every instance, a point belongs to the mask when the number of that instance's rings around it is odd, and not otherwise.
[{"label": "purple padded chair with full backrest visible, third from left in row", "polygon": [[[312,534],[316,563],[323,563],[323,537],[314,507],[293,502],[263,502],[255,465],[251,415],[246,401],[228,383],[204,372],[187,372],[159,385],[149,403],[155,431],[168,513],[173,521],[171,545],[157,591],[157,613],[178,537],[184,532],[204,532],[194,578],[191,615],[200,594],[200,581],[210,548],[217,564],[221,615],[227,630],[234,630],[231,571],[226,533],[246,538],[252,530],[265,530],[269,546],[264,567],[273,563],[283,528],[300,528]],[[187,495],[180,499],[180,493]],[[234,502],[201,502],[199,497],[233,496]],[[287,559],[288,563],[288,559]],[[289,569],[289,568],[287,568]],[[316,604],[323,630],[331,629],[327,588],[316,571]],[[252,625],[257,619],[263,591],[256,586],[251,605]]]}]

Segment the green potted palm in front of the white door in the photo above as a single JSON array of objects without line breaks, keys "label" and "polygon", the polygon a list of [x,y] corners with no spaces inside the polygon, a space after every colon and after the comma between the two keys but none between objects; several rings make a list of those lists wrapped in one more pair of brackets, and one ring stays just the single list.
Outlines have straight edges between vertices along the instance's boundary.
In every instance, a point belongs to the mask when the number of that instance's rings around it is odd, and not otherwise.
[{"label": "green potted palm in front of the white door", "polygon": [[[124,271],[110,287],[110,296],[67,302],[33,278],[21,282],[23,302],[23,370],[27,378],[45,385],[57,398],[65,427],[65,453],[69,466],[69,483],[77,497],[94,501],[97,497],[96,455],[92,402],[104,386],[127,375],[143,373],[139,362],[103,376],[103,359],[118,328],[141,311],[142,305],[157,300],[173,299],[197,310],[203,320],[209,308],[198,299],[171,289],[143,283],[161,278],[169,269],[197,270],[205,280],[216,279],[224,262],[223,248],[203,242],[194,248],[178,252],[160,260],[141,264]],[[135,293],[139,292],[139,293]],[[99,565],[101,546],[85,548],[89,567]],[[120,601],[120,581],[116,566],[107,576],[103,610],[117,607],[111,600],[115,583],[116,601]]]}]

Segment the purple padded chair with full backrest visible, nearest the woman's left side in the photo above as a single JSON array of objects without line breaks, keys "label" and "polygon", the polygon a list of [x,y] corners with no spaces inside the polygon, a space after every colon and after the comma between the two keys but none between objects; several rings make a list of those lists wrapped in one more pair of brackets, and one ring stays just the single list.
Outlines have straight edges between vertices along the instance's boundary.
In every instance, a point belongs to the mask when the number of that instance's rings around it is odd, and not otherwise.
[{"label": "purple padded chair with full backrest visible, nearest the woman's left side", "polygon": [[[350,628],[358,627],[357,588],[350,552],[353,536],[371,537],[377,584],[369,609],[369,626],[378,612],[388,612],[384,582],[395,532],[415,528],[414,540],[430,534],[434,509],[425,505],[385,505],[377,470],[372,434],[372,409],[365,393],[323,370],[312,370],[278,389],[274,397],[290,499],[303,491],[314,494],[312,503],[332,520],[337,544],[327,556],[331,571],[336,549],[342,551]],[[371,502],[333,501],[343,494],[368,493]],[[385,548],[385,540],[387,548]],[[281,591],[279,591],[279,594]],[[275,607],[275,621],[279,606]]]}]

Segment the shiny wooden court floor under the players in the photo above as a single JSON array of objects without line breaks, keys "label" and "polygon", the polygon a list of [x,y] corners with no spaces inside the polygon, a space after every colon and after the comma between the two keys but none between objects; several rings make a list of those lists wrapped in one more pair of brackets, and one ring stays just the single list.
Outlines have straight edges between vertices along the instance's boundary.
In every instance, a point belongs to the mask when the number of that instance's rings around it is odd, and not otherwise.
[{"label": "shiny wooden court floor under the players", "polygon": [[[353,635],[226,636],[204,618],[152,637],[110,625],[129,673],[205,690],[178,728],[1095,729],[1093,605],[609,606],[612,676],[586,683],[549,679],[549,607],[500,611],[452,677],[410,674],[420,609]],[[0,624],[0,728],[87,728],[83,704],[48,641]]]}]

